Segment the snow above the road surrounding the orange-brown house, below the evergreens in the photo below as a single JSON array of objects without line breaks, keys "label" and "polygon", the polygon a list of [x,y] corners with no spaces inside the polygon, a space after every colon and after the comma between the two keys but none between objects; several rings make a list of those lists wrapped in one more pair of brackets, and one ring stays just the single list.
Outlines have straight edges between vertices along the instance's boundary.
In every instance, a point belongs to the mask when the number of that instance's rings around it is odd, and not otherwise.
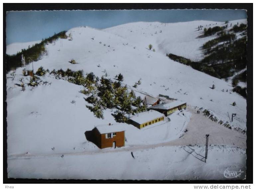
[{"label": "snow above the road surrounding the orange-brown house, below the evergreens", "polygon": [[[28,83],[29,76],[23,80]],[[85,95],[79,93],[81,86],[54,79],[49,74],[41,80],[48,84],[26,87],[25,91],[15,85],[20,83],[19,76],[8,80],[8,155],[99,151],[86,140],[84,132],[97,125],[115,123],[112,110],[104,111],[104,120],[98,119],[85,107],[89,104],[83,98]],[[170,119],[172,122],[158,122],[142,130],[125,125],[126,146],[179,138],[190,120],[190,113],[173,114]]]}]

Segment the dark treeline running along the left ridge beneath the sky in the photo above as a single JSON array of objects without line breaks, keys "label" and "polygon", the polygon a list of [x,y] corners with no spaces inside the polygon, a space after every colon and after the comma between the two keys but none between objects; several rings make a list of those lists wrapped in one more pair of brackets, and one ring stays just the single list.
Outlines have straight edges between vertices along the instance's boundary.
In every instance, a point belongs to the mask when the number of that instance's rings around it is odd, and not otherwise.
[{"label": "dark treeline running along the left ridge beneath the sky", "polygon": [[6,55],[6,71],[10,71],[12,69],[15,69],[17,67],[24,66],[22,63],[22,55],[24,57],[25,63],[29,64],[32,61],[38,61],[41,56],[46,53],[45,44],[53,43],[58,38],[64,38],[66,39],[66,31],[59,32],[57,34],[54,34],[53,36],[49,38],[43,39],[40,43],[36,43],[32,47],[29,47],[28,49],[22,49],[20,52],[18,52],[15,55]]}]

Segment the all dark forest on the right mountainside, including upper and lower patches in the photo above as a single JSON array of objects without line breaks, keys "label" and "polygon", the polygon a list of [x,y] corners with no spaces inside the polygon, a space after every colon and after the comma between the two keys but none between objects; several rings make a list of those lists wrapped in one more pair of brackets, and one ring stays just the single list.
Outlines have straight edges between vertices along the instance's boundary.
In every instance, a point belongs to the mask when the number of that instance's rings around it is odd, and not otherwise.
[{"label": "all dark forest on the right mountainside, including upper and lower patches", "polygon": [[[216,31],[217,30],[215,30],[215,32]],[[247,65],[246,25],[241,24],[239,27],[235,25],[232,29],[230,29],[230,31],[243,32],[241,34],[242,37],[237,39],[234,33],[225,31],[218,32],[218,37],[207,41],[201,47],[205,56],[199,62],[193,62],[190,59],[177,56],[172,53],[167,54],[167,56],[174,61],[189,65],[193,69],[219,79],[231,77],[236,72],[245,69]],[[234,80],[245,82],[246,71],[237,75]],[[234,92],[246,97],[246,88],[237,86],[237,84],[233,87]]]}]

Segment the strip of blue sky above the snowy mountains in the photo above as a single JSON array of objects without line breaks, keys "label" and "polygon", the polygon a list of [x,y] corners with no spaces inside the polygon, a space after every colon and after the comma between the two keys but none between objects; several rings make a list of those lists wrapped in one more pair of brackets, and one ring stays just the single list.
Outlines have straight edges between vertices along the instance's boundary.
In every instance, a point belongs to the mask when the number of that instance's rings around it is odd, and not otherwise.
[{"label": "strip of blue sky above the snowy mountains", "polygon": [[41,40],[77,26],[104,29],[138,21],[175,23],[246,18],[244,10],[12,11],[6,16],[6,43]]}]

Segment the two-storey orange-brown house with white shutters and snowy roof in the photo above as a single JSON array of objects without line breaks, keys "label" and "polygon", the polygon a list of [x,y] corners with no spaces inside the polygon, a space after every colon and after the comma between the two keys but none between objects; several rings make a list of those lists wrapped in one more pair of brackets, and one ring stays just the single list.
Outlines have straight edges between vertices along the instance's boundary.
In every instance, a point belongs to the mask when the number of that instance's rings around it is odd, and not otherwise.
[{"label": "two-storey orange-brown house with white shutters and snowy roof", "polygon": [[91,132],[92,142],[100,149],[125,146],[124,124],[96,126]]}]

